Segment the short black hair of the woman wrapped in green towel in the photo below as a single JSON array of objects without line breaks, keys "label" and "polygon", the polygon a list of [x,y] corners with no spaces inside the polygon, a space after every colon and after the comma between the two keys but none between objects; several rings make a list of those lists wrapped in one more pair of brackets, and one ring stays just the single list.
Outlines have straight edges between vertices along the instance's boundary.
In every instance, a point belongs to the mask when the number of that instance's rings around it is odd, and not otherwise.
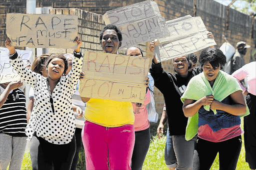
[{"label": "short black hair of the woman wrapped in green towel", "polygon": [[226,56],[220,49],[216,48],[206,48],[202,50],[199,56],[199,63],[201,67],[205,62],[209,62],[212,68],[222,68],[226,63]]}]

